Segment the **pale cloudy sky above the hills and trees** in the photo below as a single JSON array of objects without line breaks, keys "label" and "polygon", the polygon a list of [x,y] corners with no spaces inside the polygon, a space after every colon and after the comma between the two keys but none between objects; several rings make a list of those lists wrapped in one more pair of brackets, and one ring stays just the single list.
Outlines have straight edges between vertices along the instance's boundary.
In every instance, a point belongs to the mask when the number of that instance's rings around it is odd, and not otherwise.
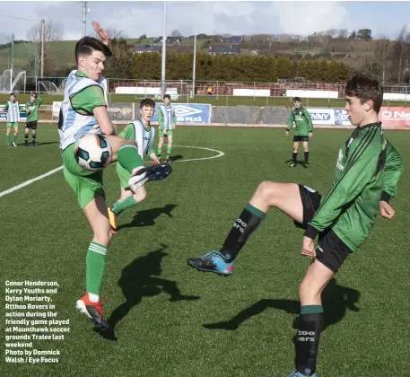
[{"label": "pale cloudy sky above the hills and trees", "polygon": [[[27,18],[23,21],[0,14],[0,43],[25,39],[26,31],[42,18],[62,22],[64,39],[80,39],[83,33],[83,2],[7,2],[1,1],[0,13]],[[87,34],[93,20],[102,27],[115,27],[126,37],[162,35],[163,2],[88,2]],[[196,31],[207,34],[276,34],[308,35],[328,29],[371,29],[373,36],[397,31],[409,22],[410,2],[173,2],[167,0],[167,33],[178,29],[182,35]],[[409,22],[410,23],[410,22]],[[409,25],[410,26],[410,25]]]}]

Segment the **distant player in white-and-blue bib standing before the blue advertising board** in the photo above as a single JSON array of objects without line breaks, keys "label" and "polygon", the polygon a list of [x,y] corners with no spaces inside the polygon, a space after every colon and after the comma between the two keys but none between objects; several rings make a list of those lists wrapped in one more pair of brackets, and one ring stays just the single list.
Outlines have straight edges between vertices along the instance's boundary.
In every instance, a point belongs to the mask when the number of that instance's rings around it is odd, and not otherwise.
[{"label": "distant player in white-and-blue bib standing before the blue advertising board", "polygon": [[172,151],[172,130],[175,129],[177,118],[175,111],[170,104],[170,94],[163,96],[163,104],[158,111],[159,140],[158,140],[158,158],[161,159],[163,138],[168,137],[167,157],[165,162],[170,162],[170,153]]}]

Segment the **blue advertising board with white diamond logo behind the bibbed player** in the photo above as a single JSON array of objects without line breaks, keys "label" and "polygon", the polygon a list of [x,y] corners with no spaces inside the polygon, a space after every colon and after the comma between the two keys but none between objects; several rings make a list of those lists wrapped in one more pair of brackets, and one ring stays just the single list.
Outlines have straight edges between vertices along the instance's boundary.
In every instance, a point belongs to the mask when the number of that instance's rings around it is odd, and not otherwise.
[{"label": "blue advertising board with white diamond logo behind the bibbed player", "polygon": [[[158,122],[161,103],[155,106],[153,122]],[[211,123],[211,105],[205,103],[172,103],[177,125],[180,123]]]}]

